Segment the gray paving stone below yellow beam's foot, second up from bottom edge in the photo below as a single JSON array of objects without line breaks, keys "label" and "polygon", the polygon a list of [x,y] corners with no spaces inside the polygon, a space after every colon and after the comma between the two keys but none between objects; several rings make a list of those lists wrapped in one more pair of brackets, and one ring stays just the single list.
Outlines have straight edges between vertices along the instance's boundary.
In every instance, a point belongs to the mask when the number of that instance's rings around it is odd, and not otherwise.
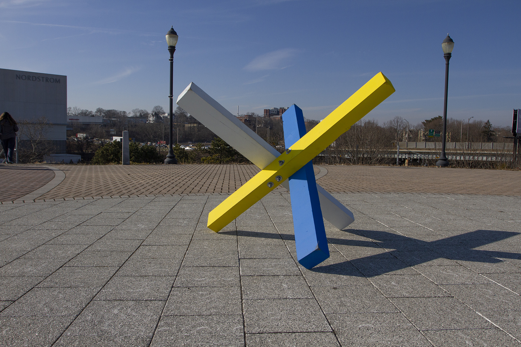
[{"label": "gray paving stone below yellow beam's foot, second up from bottom edge", "polygon": [[174,287],[163,315],[242,315],[239,287]]}]

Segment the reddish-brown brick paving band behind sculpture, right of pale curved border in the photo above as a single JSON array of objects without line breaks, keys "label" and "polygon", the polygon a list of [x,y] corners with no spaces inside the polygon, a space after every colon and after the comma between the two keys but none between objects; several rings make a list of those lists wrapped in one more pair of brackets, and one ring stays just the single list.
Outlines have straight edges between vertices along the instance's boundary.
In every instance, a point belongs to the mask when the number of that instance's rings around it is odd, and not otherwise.
[{"label": "reddish-brown brick paving band behind sculpture, right of pale curved border", "polygon": [[[521,171],[324,165],[330,192],[521,195]],[[64,181],[40,199],[229,194],[259,172],[254,165],[57,165]],[[314,167],[315,174],[319,172]],[[285,190],[280,187],[279,190]]]}]

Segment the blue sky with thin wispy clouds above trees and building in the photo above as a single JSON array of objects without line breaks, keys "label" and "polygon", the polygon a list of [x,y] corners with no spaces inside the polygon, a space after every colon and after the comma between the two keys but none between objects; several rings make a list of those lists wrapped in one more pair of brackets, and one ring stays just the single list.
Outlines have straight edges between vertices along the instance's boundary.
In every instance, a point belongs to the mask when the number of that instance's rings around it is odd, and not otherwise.
[{"label": "blue sky with thin wispy clouds above trees and building", "polygon": [[[396,92],[366,115],[512,124],[521,108],[521,2],[0,0],[0,68],[67,75],[68,106],[168,111],[194,82],[233,114],[296,104],[323,119],[378,72]],[[174,105],[174,107],[176,107]]]}]

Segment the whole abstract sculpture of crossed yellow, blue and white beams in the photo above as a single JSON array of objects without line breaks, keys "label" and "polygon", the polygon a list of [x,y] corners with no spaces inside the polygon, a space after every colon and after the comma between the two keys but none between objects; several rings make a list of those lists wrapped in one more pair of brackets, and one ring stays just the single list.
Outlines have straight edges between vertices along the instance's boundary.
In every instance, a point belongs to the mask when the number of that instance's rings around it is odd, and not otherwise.
[{"label": "whole abstract sculpture of crossed yellow, blue and white beams", "polygon": [[[311,160],[392,93],[394,88],[391,82],[380,72],[307,134],[305,127],[302,127],[302,111],[292,106],[284,112],[284,122],[289,118],[288,125],[284,123],[284,139],[287,144],[293,145],[287,146],[288,150],[279,154],[217,101],[191,83],[179,95],[177,104],[262,169],[208,214],[208,228],[218,232],[282,184],[290,188],[292,200],[294,194],[299,196],[299,200],[294,200],[298,201],[296,204],[302,202],[301,197],[305,197],[305,203],[308,204],[299,209],[292,203],[294,221],[295,214],[304,210],[312,216],[312,221],[306,223],[313,223],[313,228],[307,225],[307,231],[303,233],[299,229],[301,220],[294,224],[295,242],[300,245],[297,246],[297,259],[306,268],[312,268],[327,259],[329,250],[320,207],[325,212],[324,217],[339,229],[345,228],[354,219],[351,211],[315,183]],[[287,112],[290,113],[286,115]],[[291,117],[292,114],[294,117]],[[288,178],[289,186],[286,183]]]}]

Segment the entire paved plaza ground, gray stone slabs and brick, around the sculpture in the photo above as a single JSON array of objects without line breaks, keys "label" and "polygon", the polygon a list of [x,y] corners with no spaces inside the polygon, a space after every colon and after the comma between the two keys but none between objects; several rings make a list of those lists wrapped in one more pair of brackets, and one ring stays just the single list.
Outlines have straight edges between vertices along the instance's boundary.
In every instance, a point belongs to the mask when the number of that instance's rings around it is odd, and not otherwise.
[{"label": "entire paved plaza ground, gray stone slabs and brick, around the sculpture", "polygon": [[0,345],[520,345],[521,172],[315,166],[355,222],[312,270],[284,188],[206,227],[257,172],[0,165]]}]

